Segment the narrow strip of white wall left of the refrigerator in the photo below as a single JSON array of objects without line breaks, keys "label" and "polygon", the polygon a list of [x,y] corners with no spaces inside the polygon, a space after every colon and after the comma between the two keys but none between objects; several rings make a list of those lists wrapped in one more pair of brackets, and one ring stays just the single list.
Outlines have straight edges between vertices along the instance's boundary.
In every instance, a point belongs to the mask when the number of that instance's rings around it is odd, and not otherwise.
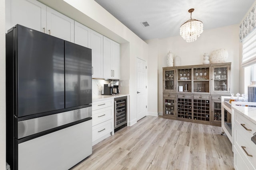
[{"label": "narrow strip of white wall left of the refrigerator", "polygon": [[5,0],[0,0],[0,169],[6,169]]}]

